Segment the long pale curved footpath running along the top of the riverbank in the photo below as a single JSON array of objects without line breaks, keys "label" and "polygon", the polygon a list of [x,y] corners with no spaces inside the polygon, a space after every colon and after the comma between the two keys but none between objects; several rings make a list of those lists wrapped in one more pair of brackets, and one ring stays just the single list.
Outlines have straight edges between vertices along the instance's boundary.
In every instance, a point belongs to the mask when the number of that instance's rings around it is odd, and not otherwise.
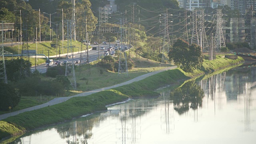
[{"label": "long pale curved footpath running along the top of the riverbank", "polygon": [[52,106],[54,104],[59,104],[59,103],[65,102],[66,100],[68,100],[70,98],[73,98],[73,97],[88,96],[90,94],[94,94],[94,93],[97,93],[97,92],[100,92],[100,91],[103,91],[103,90],[109,90],[109,89],[116,88],[116,87],[119,87],[119,86],[124,86],[126,84],[131,84],[132,82],[138,82],[138,81],[143,80],[143,79],[145,79],[145,78],[147,78],[149,76],[152,76],[154,74],[158,74],[160,72],[163,72],[163,71],[166,71],[166,70],[171,70],[171,69],[174,69],[174,68],[177,68],[177,66],[171,66],[171,67],[168,67],[168,68],[163,68],[163,69],[158,70],[158,71],[149,72],[147,74],[138,76],[138,77],[136,77],[136,78],[134,78],[132,80],[128,80],[126,82],[123,82],[123,83],[120,83],[120,84],[116,84],[114,86],[109,86],[109,87],[106,87],[106,88],[100,88],[100,89],[97,89],[97,90],[91,90],[89,92],[83,92],[83,93],[80,93],[80,94],[76,94],[74,96],[54,98],[53,100],[51,100],[49,102],[46,102],[44,104],[40,104],[40,105],[33,106],[33,107],[30,107],[30,108],[25,108],[23,110],[18,110],[18,111],[7,113],[7,114],[2,114],[2,115],[0,115],[0,120],[3,120],[3,119],[8,118],[10,116],[16,116],[16,115],[21,114],[23,112],[29,112],[29,111],[32,111],[32,110],[37,110],[37,109],[40,109],[40,108],[44,108],[46,106]]}]

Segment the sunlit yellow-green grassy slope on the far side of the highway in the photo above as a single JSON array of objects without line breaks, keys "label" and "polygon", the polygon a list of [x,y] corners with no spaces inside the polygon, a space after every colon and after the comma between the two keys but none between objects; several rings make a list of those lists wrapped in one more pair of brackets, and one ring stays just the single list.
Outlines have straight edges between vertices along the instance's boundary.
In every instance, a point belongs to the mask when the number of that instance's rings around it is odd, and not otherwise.
[{"label": "sunlit yellow-green grassy slope on the far side of the highway", "polygon": [[[38,54],[44,54],[46,56],[48,56],[48,51],[49,50],[49,56],[56,56],[56,50],[57,50],[57,57],[59,57],[59,50],[60,50],[60,54],[62,54],[62,42],[60,42],[60,47],[57,46],[57,48],[51,47],[51,43],[50,41],[47,42],[38,42],[37,43],[37,51]],[[24,48],[23,50],[27,50],[26,48],[27,44],[24,43]],[[77,41],[72,41],[72,46],[74,46],[74,52],[78,52],[78,50],[81,50],[81,42],[77,42]],[[20,47],[20,48],[19,48]],[[63,54],[66,54],[68,49],[68,44],[67,41],[63,42]],[[90,46],[89,46],[90,47]],[[82,45],[82,50],[86,49],[86,45]],[[21,54],[22,53],[22,46],[13,46],[13,47],[4,47],[4,50],[11,52],[13,54]],[[36,50],[36,43],[32,43],[32,44],[28,44],[28,50]],[[20,52],[19,52],[20,51]],[[70,53],[70,49],[69,49],[69,53]],[[12,59],[12,57],[6,57],[7,60]],[[13,57],[15,58],[15,57]],[[18,57],[17,57],[18,58]],[[28,59],[27,57],[24,57],[24,59]],[[46,60],[46,58],[38,58],[38,61],[36,62],[36,64],[42,64],[44,63]],[[35,58],[30,58],[30,62],[32,63],[32,66],[35,65]]]}]

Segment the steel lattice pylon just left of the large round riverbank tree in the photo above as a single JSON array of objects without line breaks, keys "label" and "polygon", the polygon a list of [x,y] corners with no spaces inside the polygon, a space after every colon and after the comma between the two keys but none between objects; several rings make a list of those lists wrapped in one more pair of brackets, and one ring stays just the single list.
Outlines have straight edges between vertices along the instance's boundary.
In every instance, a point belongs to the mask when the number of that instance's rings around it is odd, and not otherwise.
[{"label": "steel lattice pylon just left of the large round riverbank tree", "polygon": [[167,10],[166,13],[161,14],[161,20],[164,19],[164,39],[162,42],[162,63],[168,62],[168,54],[170,51],[170,37],[168,32],[168,17],[172,16],[168,14]]}]

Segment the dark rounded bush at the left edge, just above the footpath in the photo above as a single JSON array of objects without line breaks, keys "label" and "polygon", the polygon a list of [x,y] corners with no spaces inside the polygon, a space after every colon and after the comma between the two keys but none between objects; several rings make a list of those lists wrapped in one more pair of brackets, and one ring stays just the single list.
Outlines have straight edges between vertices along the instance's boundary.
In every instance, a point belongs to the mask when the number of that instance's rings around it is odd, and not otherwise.
[{"label": "dark rounded bush at the left edge, just above the footpath", "polygon": [[14,108],[20,102],[19,90],[9,84],[0,83],[0,110]]}]

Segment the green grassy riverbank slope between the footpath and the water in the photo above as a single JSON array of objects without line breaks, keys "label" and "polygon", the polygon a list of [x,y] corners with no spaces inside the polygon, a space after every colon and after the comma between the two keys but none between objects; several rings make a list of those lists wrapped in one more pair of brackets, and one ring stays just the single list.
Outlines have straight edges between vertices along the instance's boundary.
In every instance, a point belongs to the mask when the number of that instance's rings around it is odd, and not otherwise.
[{"label": "green grassy riverbank slope between the footpath and the water", "polygon": [[[31,112],[24,112],[17,116],[12,116],[0,121],[0,126],[4,125],[4,127],[0,127],[0,138],[18,134],[21,130],[31,130],[45,125],[71,120],[72,118],[83,114],[88,114],[98,110],[106,110],[106,105],[120,102],[129,97],[156,96],[158,95],[157,92],[154,92],[156,88],[162,87],[166,84],[172,84],[174,87],[177,87],[179,84],[183,83],[184,80],[188,80],[194,76],[218,70],[232,64],[238,64],[242,61],[242,58],[239,58],[238,60],[229,60],[218,57],[217,60],[205,61],[201,70],[194,70],[192,73],[186,73],[179,68],[168,70],[154,76],[150,76],[139,82],[114,88],[113,90],[98,92],[86,97],[75,97],[61,104]],[[6,127],[10,127],[11,129],[6,129]]]}]

